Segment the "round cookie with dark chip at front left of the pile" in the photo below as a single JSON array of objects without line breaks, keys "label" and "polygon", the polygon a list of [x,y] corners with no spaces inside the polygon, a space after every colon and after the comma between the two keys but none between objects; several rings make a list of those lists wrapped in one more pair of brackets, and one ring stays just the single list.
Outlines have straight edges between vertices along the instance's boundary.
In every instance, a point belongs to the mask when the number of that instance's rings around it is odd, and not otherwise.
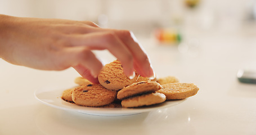
[{"label": "round cookie with dark chip at front left of the pile", "polygon": [[88,84],[74,89],[72,100],[77,105],[98,107],[111,104],[116,98],[116,91],[104,88],[101,84]]}]

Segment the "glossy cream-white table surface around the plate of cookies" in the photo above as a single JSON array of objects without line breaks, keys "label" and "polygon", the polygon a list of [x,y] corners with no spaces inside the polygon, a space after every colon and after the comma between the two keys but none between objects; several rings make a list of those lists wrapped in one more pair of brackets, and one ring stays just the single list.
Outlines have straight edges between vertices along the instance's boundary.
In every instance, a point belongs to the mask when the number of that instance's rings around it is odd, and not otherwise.
[{"label": "glossy cream-white table surface around the plate of cookies", "polygon": [[[256,134],[256,85],[236,73],[256,66],[256,38],[246,33],[193,33],[179,46],[138,38],[158,78],[195,83],[197,95],[179,105],[128,116],[95,116],[47,106],[42,88],[75,86],[74,69],[41,71],[0,59],[0,134]],[[105,63],[114,60],[96,51]],[[255,68],[256,70],[256,68]]]}]

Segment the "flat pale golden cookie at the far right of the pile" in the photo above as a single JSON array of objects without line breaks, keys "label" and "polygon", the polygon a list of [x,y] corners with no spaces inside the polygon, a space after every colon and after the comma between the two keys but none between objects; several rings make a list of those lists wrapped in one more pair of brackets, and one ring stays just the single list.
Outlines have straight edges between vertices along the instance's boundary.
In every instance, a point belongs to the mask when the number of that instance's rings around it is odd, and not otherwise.
[{"label": "flat pale golden cookie at the far right of the pile", "polygon": [[163,93],[167,100],[180,100],[196,95],[199,88],[194,83],[168,83],[162,85],[159,93]]}]

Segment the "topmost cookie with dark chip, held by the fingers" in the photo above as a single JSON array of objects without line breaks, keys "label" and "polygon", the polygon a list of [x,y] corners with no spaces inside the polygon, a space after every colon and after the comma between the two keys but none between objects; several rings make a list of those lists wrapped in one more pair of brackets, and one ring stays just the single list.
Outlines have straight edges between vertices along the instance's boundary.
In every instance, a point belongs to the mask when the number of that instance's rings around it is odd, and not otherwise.
[{"label": "topmost cookie with dark chip, held by the fingers", "polygon": [[136,73],[133,79],[129,79],[124,74],[121,62],[115,60],[102,68],[100,74],[98,74],[98,82],[107,89],[118,91],[136,82],[138,77],[139,75]]}]

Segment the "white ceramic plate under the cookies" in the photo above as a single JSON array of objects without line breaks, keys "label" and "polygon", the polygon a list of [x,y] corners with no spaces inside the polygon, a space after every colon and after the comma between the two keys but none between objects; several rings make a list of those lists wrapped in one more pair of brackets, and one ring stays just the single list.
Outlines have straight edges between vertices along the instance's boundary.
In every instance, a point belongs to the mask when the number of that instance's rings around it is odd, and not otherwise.
[{"label": "white ceramic plate under the cookies", "polygon": [[78,106],[62,100],[61,96],[63,91],[64,89],[58,90],[57,88],[39,89],[38,91],[35,91],[34,95],[35,95],[35,98],[37,98],[37,100],[51,107],[55,107],[63,110],[69,110],[69,111],[77,111],[83,114],[101,115],[101,116],[123,116],[123,115],[140,114],[140,113],[145,113],[145,112],[149,112],[156,109],[176,106],[186,100],[185,99],[185,100],[165,101],[158,105],[139,107],[139,108],[85,107],[85,106]]}]

